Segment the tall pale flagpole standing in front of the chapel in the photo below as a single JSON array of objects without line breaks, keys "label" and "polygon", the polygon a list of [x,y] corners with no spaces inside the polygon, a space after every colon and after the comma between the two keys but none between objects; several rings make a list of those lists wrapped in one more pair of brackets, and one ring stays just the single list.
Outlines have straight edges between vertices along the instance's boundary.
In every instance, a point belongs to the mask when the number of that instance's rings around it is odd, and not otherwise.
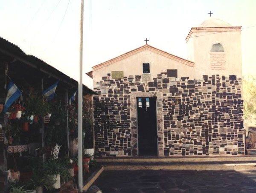
[{"label": "tall pale flagpole standing in front of the chapel", "polygon": [[80,66],[79,66],[79,84],[78,84],[78,187],[79,193],[83,192],[83,20],[84,20],[84,0],[81,0],[81,17],[80,17]]}]

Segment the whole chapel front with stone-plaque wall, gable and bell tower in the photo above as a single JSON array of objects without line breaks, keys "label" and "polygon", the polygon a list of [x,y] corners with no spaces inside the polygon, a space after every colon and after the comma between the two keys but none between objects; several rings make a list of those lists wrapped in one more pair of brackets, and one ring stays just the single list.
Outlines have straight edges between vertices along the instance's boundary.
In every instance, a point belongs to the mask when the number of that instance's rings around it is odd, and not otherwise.
[{"label": "whole chapel front with stone-plaque wall, gable and bell tower", "polygon": [[241,26],[210,18],[188,60],[145,44],[93,66],[96,156],[243,155]]}]

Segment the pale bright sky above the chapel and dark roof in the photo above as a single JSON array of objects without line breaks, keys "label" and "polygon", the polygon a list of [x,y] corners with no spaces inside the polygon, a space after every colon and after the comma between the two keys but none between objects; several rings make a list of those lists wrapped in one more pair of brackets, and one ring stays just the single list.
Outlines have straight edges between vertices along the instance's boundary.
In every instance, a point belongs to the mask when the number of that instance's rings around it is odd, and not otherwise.
[{"label": "pale bright sky above the chapel and dark roof", "polygon": [[[0,37],[79,80],[80,0],[0,0]],[[256,76],[256,0],[84,0],[85,72],[145,44],[187,59],[186,36],[212,17],[242,26],[243,75]]]}]

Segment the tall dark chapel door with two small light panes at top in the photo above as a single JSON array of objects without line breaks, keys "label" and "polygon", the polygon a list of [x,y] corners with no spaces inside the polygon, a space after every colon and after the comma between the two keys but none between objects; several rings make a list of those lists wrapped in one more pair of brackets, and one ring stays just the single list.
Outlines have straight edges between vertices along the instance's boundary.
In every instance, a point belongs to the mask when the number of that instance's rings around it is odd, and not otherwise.
[{"label": "tall dark chapel door with two small light panes at top", "polygon": [[137,98],[139,156],[157,156],[156,97]]}]

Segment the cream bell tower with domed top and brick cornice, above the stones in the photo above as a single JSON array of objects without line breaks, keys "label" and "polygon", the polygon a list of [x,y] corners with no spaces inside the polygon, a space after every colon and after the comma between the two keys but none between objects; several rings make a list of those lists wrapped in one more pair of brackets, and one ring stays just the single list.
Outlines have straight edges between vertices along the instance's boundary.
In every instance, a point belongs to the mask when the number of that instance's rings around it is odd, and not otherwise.
[{"label": "cream bell tower with domed top and brick cornice, above the stones", "polygon": [[186,37],[188,59],[195,62],[195,77],[237,75],[241,78],[241,26],[210,17],[192,27]]}]

